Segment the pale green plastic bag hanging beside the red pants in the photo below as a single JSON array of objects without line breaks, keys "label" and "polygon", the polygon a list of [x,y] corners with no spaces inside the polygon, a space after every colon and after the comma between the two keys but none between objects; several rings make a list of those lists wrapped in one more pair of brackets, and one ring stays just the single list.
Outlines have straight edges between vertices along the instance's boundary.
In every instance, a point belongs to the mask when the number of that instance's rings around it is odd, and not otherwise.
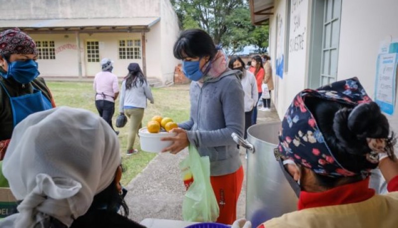
[{"label": "pale green plastic bag hanging beside the red pants", "polygon": [[[217,200],[210,183],[210,160],[201,157],[195,146],[189,146],[189,155],[180,163],[183,180],[188,188],[183,200],[183,219],[192,222],[214,222],[219,215]],[[192,173],[193,182],[189,173]]]}]

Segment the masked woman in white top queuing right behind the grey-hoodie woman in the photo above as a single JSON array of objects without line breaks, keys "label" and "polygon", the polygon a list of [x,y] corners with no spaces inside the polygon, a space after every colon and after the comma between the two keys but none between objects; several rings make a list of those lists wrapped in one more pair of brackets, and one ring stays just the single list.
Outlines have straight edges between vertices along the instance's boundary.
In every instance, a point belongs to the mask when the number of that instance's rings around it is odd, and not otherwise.
[{"label": "masked woman in white top queuing right behind the grey-hoodie woman", "polygon": [[240,70],[243,74],[241,77],[241,84],[243,92],[245,93],[245,133],[244,138],[247,138],[247,128],[252,125],[253,108],[257,104],[258,91],[257,82],[254,75],[245,69],[245,63],[239,56],[233,56],[229,60],[228,67],[233,70]]}]

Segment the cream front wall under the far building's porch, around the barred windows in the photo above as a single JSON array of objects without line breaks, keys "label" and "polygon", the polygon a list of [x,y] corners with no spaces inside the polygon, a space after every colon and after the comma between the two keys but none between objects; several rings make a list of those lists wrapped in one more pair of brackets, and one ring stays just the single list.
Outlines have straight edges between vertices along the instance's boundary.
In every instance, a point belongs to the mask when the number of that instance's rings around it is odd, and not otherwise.
[{"label": "cream front wall under the far building's porch, around the barred windows", "polygon": [[[53,40],[55,44],[55,60],[50,60],[50,59],[38,60],[39,71],[41,76],[77,77],[79,75],[78,50],[76,44],[76,35],[74,33],[55,34],[55,35],[31,34],[31,36],[34,40]],[[119,59],[118,45],[119,45],[119,40],[122,39],[141,40],[141,33],[93,33],[91,35],[88,33],[80,34],[80,48],[81,48],[80,53],[81,53],[83,76],[88,76],[88,77],[95,76],[95,73],[101,71],[100,62],[95,62],[95,63],[87,62],[86,42],[88,40],[99,41],[100,60],[102,58],[109,58],[113,60],[114,63],[113,63],[112,72],[118,77],[124,77],[127,75],[128,73],[127,66],[132,62],[138,63],[142,68],[142,59]],[[153,41],[153,42],[159,43],[159,41]],[[156,58],[156,56],[151,56],[151,58],[148,58],[147,56],[147,60],[153,58]],[[89,67],[91,67],[90,70],[88,69]],[[148,75],[158,75],[158,76],[161,75],[159,73],[160,72],[159,64],[153,64],[150,65],[149,67],[147,65],[147,70],[149,70],[150,72],[148,73]]]}]

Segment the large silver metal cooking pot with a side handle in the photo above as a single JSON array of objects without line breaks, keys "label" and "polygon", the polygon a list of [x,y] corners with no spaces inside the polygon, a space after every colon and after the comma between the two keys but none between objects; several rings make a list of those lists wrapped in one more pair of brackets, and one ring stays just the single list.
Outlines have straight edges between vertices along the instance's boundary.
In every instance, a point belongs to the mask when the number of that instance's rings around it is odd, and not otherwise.
[{"label": "large silver metal cooking pot with a side handle", "polygon": [[252,227],[297,210],[298,198],[274,156],[281,122],[259,123],[248,128],[247,140],[238,140],[247,149],[246,219]]}]

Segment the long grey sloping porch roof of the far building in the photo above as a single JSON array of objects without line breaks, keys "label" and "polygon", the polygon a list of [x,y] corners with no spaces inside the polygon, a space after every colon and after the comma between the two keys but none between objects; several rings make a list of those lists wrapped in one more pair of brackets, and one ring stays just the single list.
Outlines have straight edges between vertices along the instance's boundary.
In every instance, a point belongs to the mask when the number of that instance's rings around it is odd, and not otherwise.
[{"label": "long grey sloping porch roof of the far building", "polygon": [[0,30],[19,27],[29,33],[148,32],[160,17],[0,20]]}]

